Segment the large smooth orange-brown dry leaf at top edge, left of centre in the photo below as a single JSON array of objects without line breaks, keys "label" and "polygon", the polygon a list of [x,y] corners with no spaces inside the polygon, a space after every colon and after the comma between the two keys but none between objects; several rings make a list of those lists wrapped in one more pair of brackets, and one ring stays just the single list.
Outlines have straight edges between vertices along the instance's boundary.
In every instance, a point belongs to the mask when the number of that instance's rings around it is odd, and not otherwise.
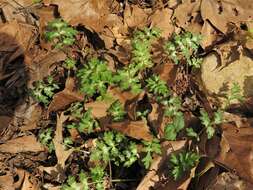
[{"label": "large smooth orange-brown dry leaf at top edge, left of centre", "polygon": [[110,4],[107,0],[51,0],[51,4],[59,7],[60,15],[69,24],[82,24],[96,32],[102,31],[107,25],[106,21],[110,14]]}]

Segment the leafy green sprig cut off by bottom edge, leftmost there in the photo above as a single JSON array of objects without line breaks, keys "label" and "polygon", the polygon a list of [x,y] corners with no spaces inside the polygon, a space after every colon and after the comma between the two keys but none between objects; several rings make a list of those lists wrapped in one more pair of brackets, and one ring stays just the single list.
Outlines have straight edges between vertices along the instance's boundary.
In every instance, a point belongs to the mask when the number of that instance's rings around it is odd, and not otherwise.
[{"label": "leafy green sprig cut off by bottom edge, leftmost there", "polygon": [[74,176],[69,176],[67,184],[61,187],[61,190],[89,190],[88,177],[85,173],[81,172],[79,174],[79,183],[76,181]]}]

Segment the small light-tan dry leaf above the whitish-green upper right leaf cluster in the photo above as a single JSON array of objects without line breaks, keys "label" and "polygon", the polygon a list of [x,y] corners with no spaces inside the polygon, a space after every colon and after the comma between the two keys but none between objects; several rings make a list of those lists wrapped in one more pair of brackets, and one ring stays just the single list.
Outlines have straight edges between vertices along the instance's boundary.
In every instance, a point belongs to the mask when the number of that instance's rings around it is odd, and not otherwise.
[{"label": "small light-tan dry leaf above the whitish-green upper right leaf cluster", "polygon": [[[159,28],[161,30],[161,36],[168,38],[174,32],[174,25],[171,22],[171,16],[173,11],[169,8],[162,10],[156,10],[153,15],[150,16],[151,26]],[[162,19],[161,19],[162,18]]]}]

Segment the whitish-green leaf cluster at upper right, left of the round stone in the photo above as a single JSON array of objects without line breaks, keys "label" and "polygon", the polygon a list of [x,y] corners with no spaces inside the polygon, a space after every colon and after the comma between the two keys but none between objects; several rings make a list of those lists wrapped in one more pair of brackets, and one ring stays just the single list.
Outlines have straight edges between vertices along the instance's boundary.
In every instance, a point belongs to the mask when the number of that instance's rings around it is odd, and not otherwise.
[{"label": "whitish-green leaf cluster at upper right, left of the round stone", "polygon": [[175,64],[185,60],[186,63],[195,68],[199,68],[202,59],[196,56],[199,48],[201,36],[185,32],[175,35],[173,39],[165,44],[165,51]]}]

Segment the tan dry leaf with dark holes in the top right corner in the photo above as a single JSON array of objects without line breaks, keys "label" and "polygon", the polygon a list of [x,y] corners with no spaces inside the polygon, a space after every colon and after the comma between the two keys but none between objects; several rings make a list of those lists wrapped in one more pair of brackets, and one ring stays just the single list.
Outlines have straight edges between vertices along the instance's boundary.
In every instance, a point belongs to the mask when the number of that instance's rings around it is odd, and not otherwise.
[{"label": "tan dry leaf with dark holes in the top right corner", "polygon": [[228,24],[252,20],[253,4],[248,0],[202,0],[201,16],[223,33]]}]

